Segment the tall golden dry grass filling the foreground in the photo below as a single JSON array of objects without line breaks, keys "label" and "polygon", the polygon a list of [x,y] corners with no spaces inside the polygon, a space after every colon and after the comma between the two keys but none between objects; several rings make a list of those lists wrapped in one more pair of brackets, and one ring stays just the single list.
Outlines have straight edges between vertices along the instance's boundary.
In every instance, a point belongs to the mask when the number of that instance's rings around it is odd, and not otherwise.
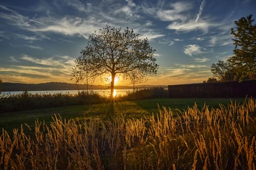
[{"label": "tall golden dry grass filling the foreground", "polygon": [[256,102],[109,121],[35,122],[2,130],[0,169],[256,169]]}]

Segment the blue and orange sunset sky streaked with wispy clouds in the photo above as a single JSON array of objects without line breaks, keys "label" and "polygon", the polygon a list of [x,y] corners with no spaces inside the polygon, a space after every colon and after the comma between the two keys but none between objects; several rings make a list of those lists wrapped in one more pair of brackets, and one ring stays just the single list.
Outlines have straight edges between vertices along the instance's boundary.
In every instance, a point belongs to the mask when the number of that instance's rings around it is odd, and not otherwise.
[{"label": "blue and orange sunset sky streaked with wispy clouds", "polygon": [[233,55],[234,21],[255,19],[255,9],[255,0],[1,0],[0,79],[74,83],[71,68],[89,35],[110,25],[133,29],[156,49],[157,75],[144,84],[202,83],[212,63]]}]

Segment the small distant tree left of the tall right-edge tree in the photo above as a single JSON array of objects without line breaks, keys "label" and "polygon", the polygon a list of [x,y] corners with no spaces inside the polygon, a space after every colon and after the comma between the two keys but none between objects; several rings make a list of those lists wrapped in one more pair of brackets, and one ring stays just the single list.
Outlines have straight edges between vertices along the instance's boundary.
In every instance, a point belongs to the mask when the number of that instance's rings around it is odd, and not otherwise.
[{"label": "small distant tree left of the tall right-edge tree", "polygon": [[211,72],[213,73],[214,77],[218,78],[220,81],[225,80],[225,75],[229,71],[228,63],[223,61],[218,61],[217,64],[212,63]]}]

